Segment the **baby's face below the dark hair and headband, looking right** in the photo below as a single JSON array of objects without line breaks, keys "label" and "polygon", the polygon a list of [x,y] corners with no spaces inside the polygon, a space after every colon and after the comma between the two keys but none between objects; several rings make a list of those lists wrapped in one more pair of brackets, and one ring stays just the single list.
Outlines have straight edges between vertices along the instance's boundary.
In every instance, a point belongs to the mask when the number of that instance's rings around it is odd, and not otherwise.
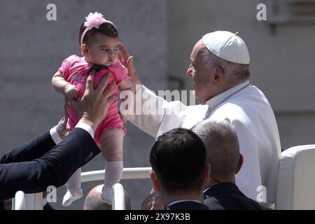
[{"label": "baby's face below the dark hair and headband, looking right", "polygon": [[92,44],[88,47],[87,59],[93,64],[111,66],[118,60],[118,38],[95,34]]}]

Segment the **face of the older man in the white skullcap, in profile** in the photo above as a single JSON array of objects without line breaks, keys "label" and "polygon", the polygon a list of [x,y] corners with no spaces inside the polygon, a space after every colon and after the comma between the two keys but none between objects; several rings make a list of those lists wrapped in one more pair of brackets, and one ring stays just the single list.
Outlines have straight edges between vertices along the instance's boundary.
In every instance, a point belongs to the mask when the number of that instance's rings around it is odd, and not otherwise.
[{"label": "face of the older man in the white skullcap, in profile", "polygon": [[193,78],[195,95],[200,104],[206,104],[207,100],[214,95],[211,86],[211,77],[214,75],[214,69],[205,69],[200,55],[200,50],[204,47],[202,40],[195,44],[190,55],[190,66],[187,70],[187,76]]}]

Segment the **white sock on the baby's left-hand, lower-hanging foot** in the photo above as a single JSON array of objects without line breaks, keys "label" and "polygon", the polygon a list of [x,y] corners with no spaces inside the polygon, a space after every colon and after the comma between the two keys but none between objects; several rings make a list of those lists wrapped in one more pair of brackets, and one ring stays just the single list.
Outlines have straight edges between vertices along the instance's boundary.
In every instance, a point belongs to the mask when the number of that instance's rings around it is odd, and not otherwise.
[{"label": "white sock on the baby's left-hand, lower-hanging foot", "polygon": [[66,194],[62,200],[62,206],[67,207],[75,200],[83,196],[81,189],[81,168],[77,169],[66,182]]}]

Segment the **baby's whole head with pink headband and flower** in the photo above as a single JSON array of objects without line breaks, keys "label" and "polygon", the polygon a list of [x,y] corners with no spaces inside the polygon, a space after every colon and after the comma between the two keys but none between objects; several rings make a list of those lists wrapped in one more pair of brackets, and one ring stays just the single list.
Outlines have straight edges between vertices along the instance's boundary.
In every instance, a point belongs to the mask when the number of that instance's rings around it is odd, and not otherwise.
[{"label": "baby's whole head with pink headband and flower", "polygon": [[80,27],[79,42],[85,60],[111,66],[118,61],[118,31],[101,13],[90,13]]}]

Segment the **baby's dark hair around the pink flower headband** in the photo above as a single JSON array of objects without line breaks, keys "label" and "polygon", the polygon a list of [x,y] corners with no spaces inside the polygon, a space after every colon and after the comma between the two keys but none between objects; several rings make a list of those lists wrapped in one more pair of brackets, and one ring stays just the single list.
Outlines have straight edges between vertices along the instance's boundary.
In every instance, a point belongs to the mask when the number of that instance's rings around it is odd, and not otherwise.
[{"label": "baby's dark hair around the pink flower headband", "polygon": [[[83,31],[85,31],[86,27],[84,25],[84,22],[83,24],[81,25],[80,27],[80,33],[79,33],[79,43],[81,41],[81,36],[83,34]],[[110,37],[113,37],[113,38],[116,38],[118,37],[118,31],[117,29],[109,24],[109,23],[102,23],[101,25],[99,25],[99,29],[96,29],[96,28],[92,28],[90,29],[89,31],[87,31],[83,37],[83,41],[82,43],[85,43],[86,45],[89,45],[93,39],[93,36],[97,33],[101,33],[101,34],[104,34],[106,36],[110,36]],[[81,43],[80,43],[81,44]]]}]

